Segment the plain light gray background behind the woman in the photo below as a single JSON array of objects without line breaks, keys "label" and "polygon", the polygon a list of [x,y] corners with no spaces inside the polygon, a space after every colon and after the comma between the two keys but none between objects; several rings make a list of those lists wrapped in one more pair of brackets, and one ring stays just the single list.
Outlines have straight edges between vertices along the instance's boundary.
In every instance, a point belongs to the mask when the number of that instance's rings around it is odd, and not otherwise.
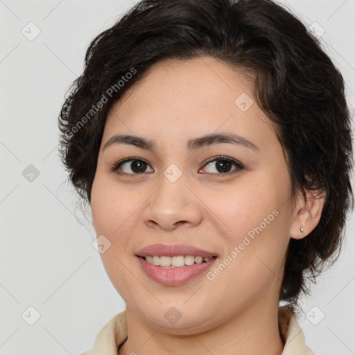
[{"label": "plain light gray background behind the woman", "polygon": [[[136,2],[0,0],[0,354],[80,354],[125,309],[66,182],[57,117],[90,40]],[[342,71],[354,107],[355,0],[282,3],[307,26],[316,21],[324,28],[324,49]],[[35,34],[30,21],[40,28],[32,41],[21,33]],[[22,173],[30,164],[40,173],[32,182]],[[353,234],[354,215],[340,260],[302,300],[299,322],[317,355],[355,354]],[[36,311],[29,306],[40,313],[33,325]]]}]

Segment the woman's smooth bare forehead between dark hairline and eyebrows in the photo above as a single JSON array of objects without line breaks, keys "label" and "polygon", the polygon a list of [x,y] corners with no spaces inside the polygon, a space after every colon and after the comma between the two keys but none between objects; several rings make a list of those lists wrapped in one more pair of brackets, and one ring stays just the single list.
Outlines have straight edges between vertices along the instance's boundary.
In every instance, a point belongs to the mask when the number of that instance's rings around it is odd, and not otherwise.
[{"label": "woman's smooth bare forehead between dark hairline and eyebrows", "polygon": [[104,137],[119,132],[159,143],[222,131],[264,144],[276,138],[254,102],[250,79],[225,62],[201,57],[168,59],[150,67],[111,107]]}]

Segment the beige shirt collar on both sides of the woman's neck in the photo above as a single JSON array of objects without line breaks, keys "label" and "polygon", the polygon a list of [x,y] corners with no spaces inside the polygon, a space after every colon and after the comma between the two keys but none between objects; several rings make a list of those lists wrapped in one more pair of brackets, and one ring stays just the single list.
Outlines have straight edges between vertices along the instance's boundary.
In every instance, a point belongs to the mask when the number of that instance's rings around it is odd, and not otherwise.
[{"label": "beige shirt collar on both sides of the woman's neck", "polygon": [[[302,329],[295,315],[284,307],[279,308],[279,331],[285,347],[282,355],[315,355],[306,346]],[[119,346],[128,337],[125,311],[116,314],[98,332],[92,350],[80,355],[118,355]]]}]

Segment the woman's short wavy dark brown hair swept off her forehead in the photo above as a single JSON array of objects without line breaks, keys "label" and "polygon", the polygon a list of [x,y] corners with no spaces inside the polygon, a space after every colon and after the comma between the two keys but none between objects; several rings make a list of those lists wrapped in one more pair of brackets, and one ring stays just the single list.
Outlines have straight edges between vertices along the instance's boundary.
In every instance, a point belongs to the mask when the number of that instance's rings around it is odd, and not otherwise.
[{"label": "woman's short wavy dark brown hair swept off her forehead", "polygon": [[73,186],[91,203],[107,112],[159,60],[209,55],[250,73],[257,104],[275,123],[288,158],[292,196],[297,189],[326,193],[318,225],[288,248],[279,300],[296,305],[301,291],[308,292],[306,278],[338,257],[354,205],[344,80],[321,47],[299,19],[270,0],[137,3],[91,42],[85,70],[62,106],[60,155]]}]

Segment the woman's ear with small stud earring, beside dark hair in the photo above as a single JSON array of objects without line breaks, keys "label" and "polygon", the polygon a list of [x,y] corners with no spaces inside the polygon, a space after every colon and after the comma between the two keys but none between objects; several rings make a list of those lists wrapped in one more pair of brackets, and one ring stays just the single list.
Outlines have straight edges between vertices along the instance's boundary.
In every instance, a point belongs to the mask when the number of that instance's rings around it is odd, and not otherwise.
[{"label": "woman's ear with small stud earring, beside dark hair", "polygon": [[[306,198],[301,191],[297,193],[294,218],[290,230],[291,238],[302,239],[314,230],[322,215],[325,197],[324,191],[307,190]],[[303,232],[300,230],[301,227]]]}]

